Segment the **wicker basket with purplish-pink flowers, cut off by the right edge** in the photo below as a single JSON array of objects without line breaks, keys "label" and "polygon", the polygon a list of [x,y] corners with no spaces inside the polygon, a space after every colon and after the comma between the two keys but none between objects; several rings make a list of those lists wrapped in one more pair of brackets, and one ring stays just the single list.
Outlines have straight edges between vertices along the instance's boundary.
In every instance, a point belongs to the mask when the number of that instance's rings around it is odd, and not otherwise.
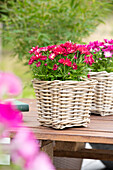
[{"label": "wicker basket with purplish-pink flowers, cut off by the right edge", "polygon": [[92,64],[90,78],[98,81],[91,112],[101,116],[113,114],[113,40],[90,42],[88,50],[95,62]]}]

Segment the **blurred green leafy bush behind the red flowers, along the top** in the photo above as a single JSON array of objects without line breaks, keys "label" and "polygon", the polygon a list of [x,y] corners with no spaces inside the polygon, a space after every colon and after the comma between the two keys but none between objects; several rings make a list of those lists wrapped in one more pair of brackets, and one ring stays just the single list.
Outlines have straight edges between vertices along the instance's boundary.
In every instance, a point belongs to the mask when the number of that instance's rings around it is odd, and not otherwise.
[{"label": "blurred green leafy bush behind the red flowers, along the top", "polygon": [[[112,0],[4,0],[3,37],[20,59],[31,44],[81,42],[109,13]],[[6,15],[7,14],[7,15]]]}]

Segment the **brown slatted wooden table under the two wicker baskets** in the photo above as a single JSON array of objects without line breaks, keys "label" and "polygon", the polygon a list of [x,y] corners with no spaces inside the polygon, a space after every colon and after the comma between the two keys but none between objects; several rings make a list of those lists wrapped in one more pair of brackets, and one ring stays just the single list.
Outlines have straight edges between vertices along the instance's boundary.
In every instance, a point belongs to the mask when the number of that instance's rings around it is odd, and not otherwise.
[{"label": "brown slatted wooden table under the two wicker baskets", "polygon": [[36,138],[47,145],[55,141],[53,155],[57,157],[89,158],[112,160],[113,151],[85,149],[84,143],[113,144],[113,116],[91,115],[88,127],[73,127],[56,130],[39,126],[36,113],[36,100],[21,99],[30,106],[29,112],[23,112],[24,123],[30,127]]}]

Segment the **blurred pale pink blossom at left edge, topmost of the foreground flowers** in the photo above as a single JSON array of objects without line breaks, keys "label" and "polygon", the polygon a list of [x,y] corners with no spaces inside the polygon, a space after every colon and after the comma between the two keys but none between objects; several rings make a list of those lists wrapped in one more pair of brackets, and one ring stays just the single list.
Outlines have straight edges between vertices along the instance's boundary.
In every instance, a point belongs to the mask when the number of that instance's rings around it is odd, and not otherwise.
[{"label": "blurred pale pink blossom at left edge, topmost of the foreground flowers", "polygon": [[22,91],[21,80],[13,73],[0,72],[0,96],[18,95]]}]

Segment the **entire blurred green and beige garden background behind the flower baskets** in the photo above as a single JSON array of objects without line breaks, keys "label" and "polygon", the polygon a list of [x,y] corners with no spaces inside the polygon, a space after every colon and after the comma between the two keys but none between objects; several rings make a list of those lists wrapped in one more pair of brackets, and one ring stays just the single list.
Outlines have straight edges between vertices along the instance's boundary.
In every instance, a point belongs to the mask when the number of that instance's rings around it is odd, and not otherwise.
[{"label": "entire blurred green and beige garden background behind the flower baskets", "polygon": [[0,70],[23,82],[19,98],[34,98],[28,51],[65,41],[113,38],[113,0],[1,0]]}]

